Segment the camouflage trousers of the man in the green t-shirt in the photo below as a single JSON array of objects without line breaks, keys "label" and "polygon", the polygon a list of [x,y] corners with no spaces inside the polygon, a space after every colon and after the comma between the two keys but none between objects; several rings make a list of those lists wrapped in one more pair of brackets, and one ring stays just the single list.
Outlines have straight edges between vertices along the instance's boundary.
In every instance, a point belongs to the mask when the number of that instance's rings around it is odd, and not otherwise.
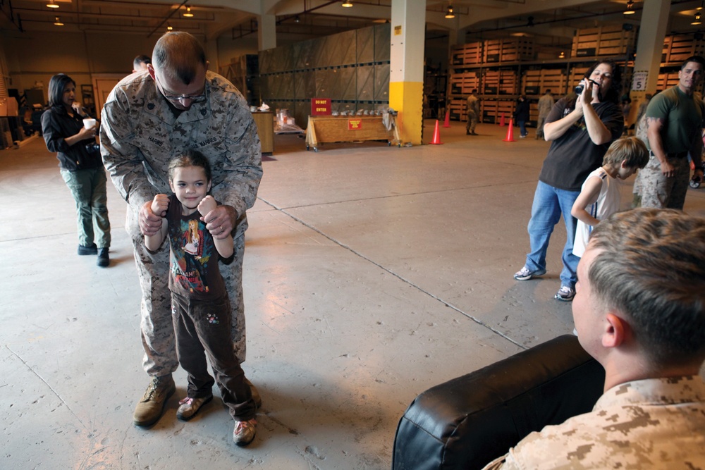
[{"label": "camouflage trousers of the man in the green t-shirt", "polygon": [[661,163],[653,154],[649,158],[646,168],[639,170],[639,192],[642,195],[642,207],[683,209],[690,179],[688,159],[668,157],[668,163],[674,168],[673,176],[668,178],[661,173]]}]

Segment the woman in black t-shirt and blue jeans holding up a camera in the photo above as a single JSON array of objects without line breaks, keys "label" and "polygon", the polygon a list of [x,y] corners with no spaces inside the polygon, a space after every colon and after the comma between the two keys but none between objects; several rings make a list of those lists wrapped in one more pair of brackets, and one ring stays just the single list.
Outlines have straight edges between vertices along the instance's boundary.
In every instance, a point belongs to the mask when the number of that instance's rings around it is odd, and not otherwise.
[{"label": "woman in black t-shirt and blue jeans holding up a camera", "polygon": [[572,254],[577,219],[570,214],[570,209],[587,175],[602,165],[608,147],[622,135],[621,89],[619,67],[610,60],[599,61],[585,73],[576,93],[553,105],[544,124],[544,138],[551,142],[551,148],[534,192],[528,226],[531,251],[514,278],[529,280],[546,273],[548,240],[563,216],[567,240],[563,248],[560,289],[555,298],[564,302],[570,302],[575,296],[575,271],[580,261]]}]

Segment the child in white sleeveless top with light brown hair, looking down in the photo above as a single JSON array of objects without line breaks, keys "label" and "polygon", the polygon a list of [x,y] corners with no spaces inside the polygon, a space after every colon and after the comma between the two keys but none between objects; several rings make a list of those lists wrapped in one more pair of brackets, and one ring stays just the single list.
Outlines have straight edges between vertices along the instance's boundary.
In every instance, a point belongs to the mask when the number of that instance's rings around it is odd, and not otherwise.
[{"label": "child in white sleeveless top with light brown hair, looking down", "polygon": [[592,228],[620,209],[618,179],[629,178],[637,168],[649,163],[649,151],[638,137],[622,137],[612,142],[601,168],[590,173],[570,210],[577,218],[573,254],[582,257]]}]

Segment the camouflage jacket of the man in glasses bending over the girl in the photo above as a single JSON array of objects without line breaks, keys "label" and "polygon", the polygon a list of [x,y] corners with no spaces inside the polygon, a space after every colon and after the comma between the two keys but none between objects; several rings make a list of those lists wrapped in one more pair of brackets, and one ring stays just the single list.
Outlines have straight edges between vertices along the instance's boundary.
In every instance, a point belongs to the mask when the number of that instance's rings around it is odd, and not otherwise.
[{"label": "camouflage jacket of the man in glasses bending over the girl", "polygon": [[245,211],[255,204],[262,179],[257,125],[245,99],[228,80],[207,72],[206,101],[175,116],[148,73],[125,77],[102,111],[100,141],[106,169],[130,208],[138,212],[154,194],[169,194],[168,163],[186,149],[200,151],[212,167],[212,194],[235,208],[233,237],[245,232]]}]

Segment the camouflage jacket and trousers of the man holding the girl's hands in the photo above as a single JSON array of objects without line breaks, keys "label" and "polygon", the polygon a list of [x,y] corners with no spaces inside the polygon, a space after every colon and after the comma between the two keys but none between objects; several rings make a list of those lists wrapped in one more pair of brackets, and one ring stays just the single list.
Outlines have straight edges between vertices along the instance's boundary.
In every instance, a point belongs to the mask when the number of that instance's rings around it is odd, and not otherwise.
[{"label": "camouflage jacket and trousers of the man holding the girl's hands", "polygon": [[142,287],[142,343],[149,376],[176,371],[178,359],[168,289],[168,244],[151,253],[144,245],[138,216],[154,194],[169,194],[168,162],[196,149],[213,170],[212,194],[238,215],[233,230],[235,255],[221,264],[232,307],[235,354],[245,360],[243,255],[245,211],[255,204],[262,179],[257,127],[245,99],[225,78],[207,72],[205,101],[193,102],[176,116],[149,73],[130,75],[109,94],[102,112],[101,145],[105,166],[128,202],[126,229],[132,238]]}]

